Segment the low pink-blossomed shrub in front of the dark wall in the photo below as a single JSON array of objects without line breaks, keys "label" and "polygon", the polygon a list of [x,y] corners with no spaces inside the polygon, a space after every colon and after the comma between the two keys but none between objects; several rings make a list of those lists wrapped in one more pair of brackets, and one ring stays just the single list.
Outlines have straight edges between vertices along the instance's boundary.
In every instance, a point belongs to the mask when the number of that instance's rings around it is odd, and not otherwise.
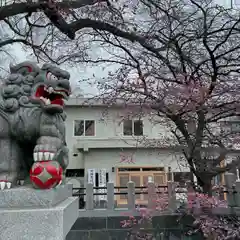
[{"label": "low pink-blossomed shrub in front of the dark wall", "polygon": [[[181,224],[186,215],[193,217],[194,221],[183,234],[194,236],[201,234],[206,240],[237,240],[240,239],[240,222],[234,215],[220,215],[221,209],[227,208],[227,202],[218,197],[208,196],[203,193],[188,193],[188,200],[181,203],[175,211],[178,223]],[[218,214],[214,211],[218,209]],[[136,208],[140,217],[129,216],[127,220],[121,222],[123,228],[128,228],[128,239],[130,240],[151,240],[153,235],[146,233],[152,223],[155,213],[167,213],[169,210],[166,195],[160,194],[156,199],[156,208]],[[220,212],[219,212],[220,210]],[[170,216],[170,215],[169,215]],[[166,215],[166,218],[168,215]],[[169,226],[171,227],[171,226]],[[163,238],[165,239],[165,238]]]}]

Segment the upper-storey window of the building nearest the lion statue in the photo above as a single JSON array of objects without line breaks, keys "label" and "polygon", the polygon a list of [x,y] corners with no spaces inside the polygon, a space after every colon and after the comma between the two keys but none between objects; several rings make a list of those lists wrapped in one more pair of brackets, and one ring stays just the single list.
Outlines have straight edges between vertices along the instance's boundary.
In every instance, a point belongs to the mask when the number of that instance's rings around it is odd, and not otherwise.
[{"label": "upper-storey window of the building nearest the lion statue", "polygon": [[74,136],[95,136],[95,121],[75,120]]}]

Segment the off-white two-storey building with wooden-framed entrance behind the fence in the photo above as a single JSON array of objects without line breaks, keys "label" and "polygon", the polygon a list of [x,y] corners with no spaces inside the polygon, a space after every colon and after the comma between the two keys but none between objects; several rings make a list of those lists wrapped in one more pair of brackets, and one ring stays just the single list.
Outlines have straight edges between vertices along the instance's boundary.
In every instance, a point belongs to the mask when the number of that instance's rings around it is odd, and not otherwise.
[{"label": "off-white two-storey building with wooden-framed entrance behind the fence", "polygon": [[[70,150],[67,177],[75,187],[92,181],[137,186],[149,178],[166,184],[179,181],[190,171],[179,149],[171,144],[167,124],[154,122],[151,112],[139,116],[139,109],[123,103],[109,106],[96,100],[71,98],[66,106],[66,142]],[[136,114],[138,113],[138,114]]]}]

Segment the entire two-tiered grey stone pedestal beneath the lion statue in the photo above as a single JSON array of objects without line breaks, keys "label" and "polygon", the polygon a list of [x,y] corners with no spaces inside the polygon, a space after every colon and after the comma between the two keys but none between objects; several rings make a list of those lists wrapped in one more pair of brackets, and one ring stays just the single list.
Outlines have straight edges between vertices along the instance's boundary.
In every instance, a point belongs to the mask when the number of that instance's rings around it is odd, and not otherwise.
[{"label": "entire two-tiered grey stone pedestal beneath the lion statue", "polygon": [[0,191],[0,240],[64,240],[77,218],[72,185]]}]

